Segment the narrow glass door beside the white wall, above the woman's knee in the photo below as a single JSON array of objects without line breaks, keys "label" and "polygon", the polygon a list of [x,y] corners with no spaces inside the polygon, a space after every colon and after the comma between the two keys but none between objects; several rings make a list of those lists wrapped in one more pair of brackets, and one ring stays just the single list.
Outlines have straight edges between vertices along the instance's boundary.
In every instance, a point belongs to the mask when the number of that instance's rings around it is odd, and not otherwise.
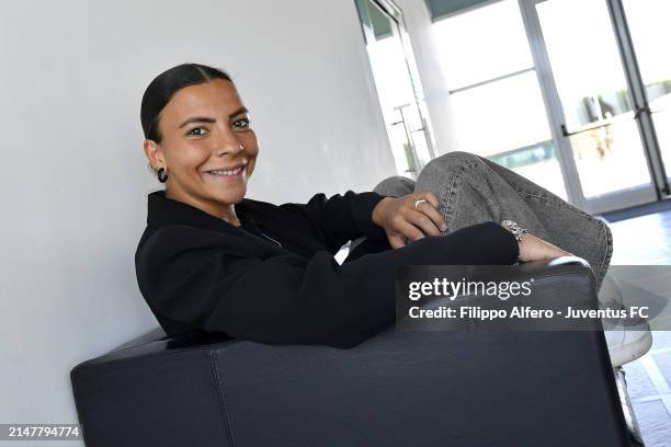
[{"label": "narrow glass door beside the white wall, above the woman's knee", "polygon": [[435,153],[402,14],[387,0],[356,0],[356,8],[397,172],[417,180]]}]

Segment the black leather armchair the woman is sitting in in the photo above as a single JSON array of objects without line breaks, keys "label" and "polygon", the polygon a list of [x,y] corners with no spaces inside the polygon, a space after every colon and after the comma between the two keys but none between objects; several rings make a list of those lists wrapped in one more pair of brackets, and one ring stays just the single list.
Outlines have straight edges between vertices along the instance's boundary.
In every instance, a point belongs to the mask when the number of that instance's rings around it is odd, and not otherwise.
[{"label": "black leather armchair the woman is sitting in", "polygon": [[[581,260],[518,268],[598,306]],[[338,349],[157,329],[70,378],[89,447],[629,445],[599,331],[389,328]]]}]

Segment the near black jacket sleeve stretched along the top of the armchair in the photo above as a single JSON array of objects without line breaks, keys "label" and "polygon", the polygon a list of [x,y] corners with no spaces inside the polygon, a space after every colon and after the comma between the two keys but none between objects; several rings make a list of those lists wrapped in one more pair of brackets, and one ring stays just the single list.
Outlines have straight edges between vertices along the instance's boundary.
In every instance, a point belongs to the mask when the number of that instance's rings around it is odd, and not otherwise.
[{"label": "near black jacket sleeve stretched along the top of the armchair", "polygon": [[396,317],[396,270],[406,264],[512,264],[514,237],[494,222],[428,236],[339,265],[326,250],[268,259],[227,254],[219,234],[163,227],[136,257],[145,298],[168,318],[269,344],[346,348]]}]

